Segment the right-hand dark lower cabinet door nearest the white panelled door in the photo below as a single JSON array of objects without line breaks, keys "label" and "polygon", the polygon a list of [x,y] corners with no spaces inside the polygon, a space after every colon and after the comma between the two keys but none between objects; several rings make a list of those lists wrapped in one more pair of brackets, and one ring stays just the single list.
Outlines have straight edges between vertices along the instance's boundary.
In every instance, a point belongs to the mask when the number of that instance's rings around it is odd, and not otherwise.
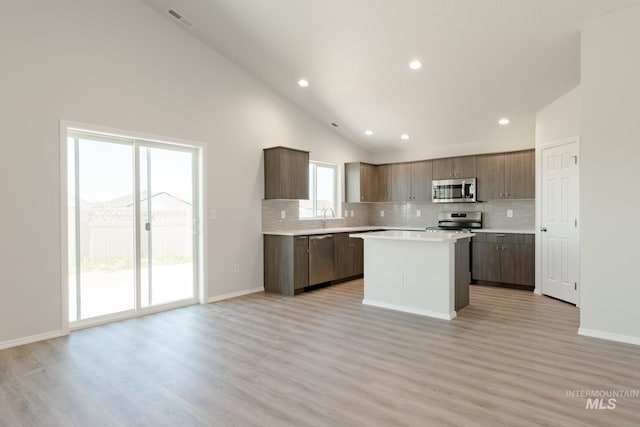
[{"label": "right-hand dark lower cabinet door nearest the white panelled door", "polygon": [[503,243],[500,269],[501,282],[535,286],[534,245]]}]

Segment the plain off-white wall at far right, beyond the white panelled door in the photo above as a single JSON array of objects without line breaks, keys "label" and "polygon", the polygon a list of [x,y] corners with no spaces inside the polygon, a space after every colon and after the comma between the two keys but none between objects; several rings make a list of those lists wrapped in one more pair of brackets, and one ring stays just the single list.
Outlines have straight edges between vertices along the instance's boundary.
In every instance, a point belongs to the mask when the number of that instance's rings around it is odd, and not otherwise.
[{"label": "plain off-white wall at far right, beyond the white panelled door", "polygon": [[[580,333],[640,344],[640,6],[582,32]],[[622,209],[620,209],[622,208]]]}]

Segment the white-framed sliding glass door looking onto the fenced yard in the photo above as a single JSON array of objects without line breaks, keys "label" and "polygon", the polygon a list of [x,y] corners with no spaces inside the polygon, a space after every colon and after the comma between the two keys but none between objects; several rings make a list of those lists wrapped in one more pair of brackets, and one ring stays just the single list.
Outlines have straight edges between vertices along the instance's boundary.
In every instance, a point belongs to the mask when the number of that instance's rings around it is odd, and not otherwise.
[{"label": "white-framed sliding glass door looking onto the fenced yard", "polygon": [[67,143],[71,326],[195,302],[197,150],[81,131]]}]

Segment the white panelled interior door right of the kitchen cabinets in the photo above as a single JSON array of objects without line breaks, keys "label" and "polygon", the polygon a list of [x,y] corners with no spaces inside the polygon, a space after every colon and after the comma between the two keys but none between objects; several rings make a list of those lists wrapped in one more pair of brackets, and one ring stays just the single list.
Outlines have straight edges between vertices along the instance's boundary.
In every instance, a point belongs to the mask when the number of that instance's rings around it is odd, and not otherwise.
[{"label": "white panelled interior door right of the kitchen cabinets", "polygon": [[542,149],[542,293],[579,302],[579,162],[577,141]]}]

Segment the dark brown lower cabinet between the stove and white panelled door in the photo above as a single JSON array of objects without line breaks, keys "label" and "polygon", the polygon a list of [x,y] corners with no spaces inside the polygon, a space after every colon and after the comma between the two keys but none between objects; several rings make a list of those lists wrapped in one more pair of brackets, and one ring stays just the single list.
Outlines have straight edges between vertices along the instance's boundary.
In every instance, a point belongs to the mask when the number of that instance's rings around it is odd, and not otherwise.
[{"label": "dark brown lower cabinet between the stove and white panelled door", "polygon": [[535,243],[532,234],[477,233],[471,242],[471,279],[533,289]]}]

